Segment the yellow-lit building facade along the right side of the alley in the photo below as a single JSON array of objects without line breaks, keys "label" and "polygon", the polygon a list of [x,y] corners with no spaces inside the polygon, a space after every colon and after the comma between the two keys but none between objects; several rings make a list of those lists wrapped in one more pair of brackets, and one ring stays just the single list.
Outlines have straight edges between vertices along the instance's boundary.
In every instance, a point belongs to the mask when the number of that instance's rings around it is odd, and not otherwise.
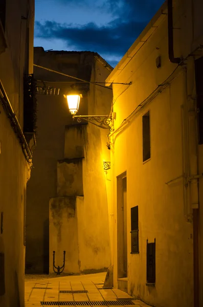
[{"label": "yellow-lit building facade along the right side of the alley", "polygon": [[[202,306],[201,1],[164,3],[106,82],[114,286],[155,306]],[[108,85],[108,84],[107,84]]]}]

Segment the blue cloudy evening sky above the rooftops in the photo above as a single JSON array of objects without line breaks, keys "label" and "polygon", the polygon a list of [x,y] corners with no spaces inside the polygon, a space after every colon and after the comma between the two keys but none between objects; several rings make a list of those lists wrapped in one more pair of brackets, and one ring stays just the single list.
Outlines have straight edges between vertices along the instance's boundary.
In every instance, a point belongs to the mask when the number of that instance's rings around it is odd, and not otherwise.
[{"label": "blue cloudy evening sky above the rooftops", "polygon": [[35,0],[34,46],[119,62],[164,0]]}]

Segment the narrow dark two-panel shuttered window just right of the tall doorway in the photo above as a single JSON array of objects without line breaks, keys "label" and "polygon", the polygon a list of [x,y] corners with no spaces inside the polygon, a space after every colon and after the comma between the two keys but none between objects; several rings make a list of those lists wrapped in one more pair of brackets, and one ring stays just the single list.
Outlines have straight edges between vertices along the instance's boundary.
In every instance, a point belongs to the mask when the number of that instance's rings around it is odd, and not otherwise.
[{"label": "narrow dark two-panel shuttered window just right of the tall doorway", "polygon": [[131,254],[139,253],[138,206],[131,208]]}]

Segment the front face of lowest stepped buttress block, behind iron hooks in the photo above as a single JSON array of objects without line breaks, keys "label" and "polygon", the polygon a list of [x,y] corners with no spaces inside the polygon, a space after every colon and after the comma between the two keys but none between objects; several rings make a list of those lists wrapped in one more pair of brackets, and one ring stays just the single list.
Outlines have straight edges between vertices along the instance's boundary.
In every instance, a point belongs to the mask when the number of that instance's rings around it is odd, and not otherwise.
[{"label": "front face of lowest stepped buttress block, behind iron hooks", "polygon": [[76,199],[76,196],[50,199],[50,273],[53,273],[54,250],[56,267],[63,265],[63,251],[65,251],[64,272],[79,272]]}]

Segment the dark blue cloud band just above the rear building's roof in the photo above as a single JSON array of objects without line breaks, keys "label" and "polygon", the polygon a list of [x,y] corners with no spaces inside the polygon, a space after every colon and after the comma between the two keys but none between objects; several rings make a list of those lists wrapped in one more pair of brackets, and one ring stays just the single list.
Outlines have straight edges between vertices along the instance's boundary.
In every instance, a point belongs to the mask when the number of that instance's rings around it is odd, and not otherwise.
[{"label": "dark blue cloud band just above the rear building's roof", "polygon": [[61,25],[55,21],[46,21],[44,24],[36,21],[35,36],[62,39],[66,42],[67,47],[75,46],[78,50],[122,56],[144,26],[143,23],[136,21],[122,23],[120,19],[103,27],[98,27],[94,23],[75,27],[74,25]]}]

